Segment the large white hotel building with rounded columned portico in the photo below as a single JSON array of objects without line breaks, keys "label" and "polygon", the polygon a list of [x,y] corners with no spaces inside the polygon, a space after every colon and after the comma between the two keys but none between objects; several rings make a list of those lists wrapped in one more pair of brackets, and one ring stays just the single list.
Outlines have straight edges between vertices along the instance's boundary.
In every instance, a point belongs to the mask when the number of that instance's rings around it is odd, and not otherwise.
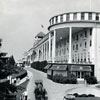
[{"label": "large white hotel building with rounded columned portico", "polygon": [[36,36],[32,60],[70,65],[78,78],[87,72],[100,80],[100,13],[69,12],[49,22],[49,32]]}]

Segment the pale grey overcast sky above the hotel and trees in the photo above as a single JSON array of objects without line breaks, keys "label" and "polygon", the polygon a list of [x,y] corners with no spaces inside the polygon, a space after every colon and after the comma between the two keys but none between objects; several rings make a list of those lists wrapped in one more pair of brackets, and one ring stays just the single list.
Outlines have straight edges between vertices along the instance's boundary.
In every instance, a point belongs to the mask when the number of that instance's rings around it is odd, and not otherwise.
[{"label": "pale grey overcast sky above the hotel and trees", "polygon": [[100,12],[100,0],[0,0],[0,50],[21,59],[36,34],[48,32],[51,17],[71,11]]}]

